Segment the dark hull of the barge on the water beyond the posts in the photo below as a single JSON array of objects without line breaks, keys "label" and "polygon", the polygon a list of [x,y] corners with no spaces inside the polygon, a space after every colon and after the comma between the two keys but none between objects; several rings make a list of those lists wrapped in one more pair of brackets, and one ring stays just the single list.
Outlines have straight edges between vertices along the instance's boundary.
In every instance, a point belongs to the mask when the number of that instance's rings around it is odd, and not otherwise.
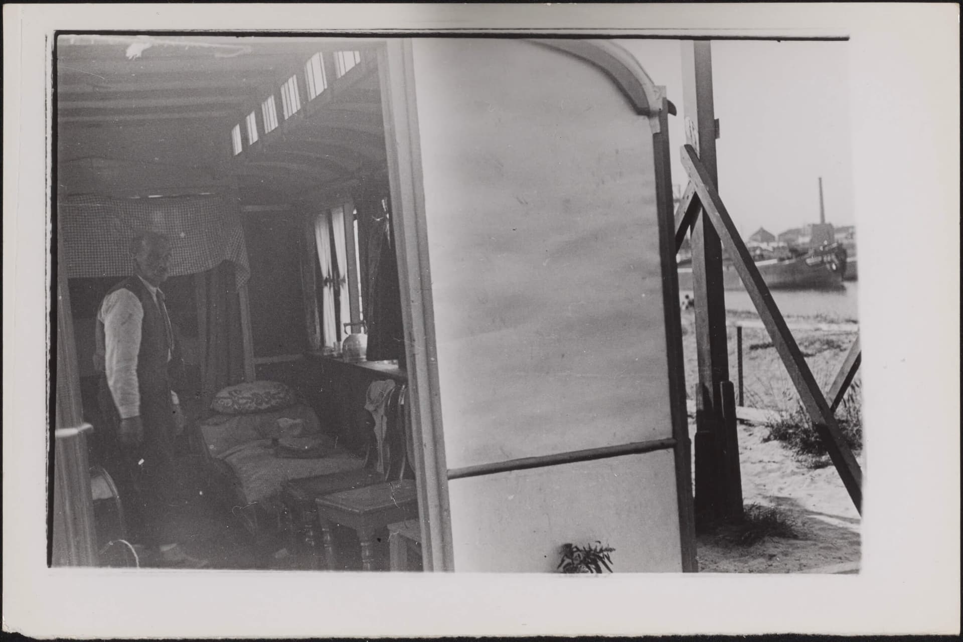
[{"label": "dark hull of the barge on the water beyond the posts", "polygon": [[[846,262],[833,261],[834,254],[811,254],[788,261],[761,261],[756,264],[770,290],[832,290],[843,287]],[[743,290],[739,272],[731,263],[723,264],[722,283],[726,290]],[[692,290],[691,266],[679,268],[679,290]]]}]

